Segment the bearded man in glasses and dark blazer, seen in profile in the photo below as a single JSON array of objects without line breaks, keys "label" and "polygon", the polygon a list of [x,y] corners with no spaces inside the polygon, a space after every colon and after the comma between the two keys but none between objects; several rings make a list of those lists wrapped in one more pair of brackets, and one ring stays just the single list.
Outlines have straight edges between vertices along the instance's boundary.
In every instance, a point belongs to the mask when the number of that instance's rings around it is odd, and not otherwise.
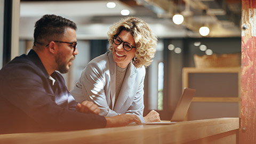
[{"label": "bearded man in glasses and dark blazer, seen in profile", "polygon": [[135,115],[99,116],[94,103],[77,103],[70,95],[57,71],[68,72],[78,54],[76,41],[73,21],[44,15],[36,22],[33,50],[14,58],[0,70],[0,133],[141,124]]}]

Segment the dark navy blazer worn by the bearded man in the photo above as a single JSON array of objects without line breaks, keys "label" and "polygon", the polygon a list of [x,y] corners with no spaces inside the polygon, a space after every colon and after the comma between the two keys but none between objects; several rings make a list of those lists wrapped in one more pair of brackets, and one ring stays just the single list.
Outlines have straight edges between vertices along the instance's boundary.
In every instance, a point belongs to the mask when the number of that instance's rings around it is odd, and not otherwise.
[{"label": "dark navy blazer worn by the bearded man", "polygon": [[[49,75],[34,50],[0,70],[0,133],[67,131],[105,127],[106,119],[75,111],[63,77]],[[53,91],[55,89],[55,91]]]}]

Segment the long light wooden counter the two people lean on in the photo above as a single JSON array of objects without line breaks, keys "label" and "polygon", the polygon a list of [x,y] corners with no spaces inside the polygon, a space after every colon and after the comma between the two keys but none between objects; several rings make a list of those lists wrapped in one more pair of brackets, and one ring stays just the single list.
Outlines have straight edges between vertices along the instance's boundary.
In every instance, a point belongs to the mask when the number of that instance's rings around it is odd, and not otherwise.
[{"label": "long light wooden counter the two people lean on", "polygon": [[0,135],[0,143],[237,143],[239,118],[214,118],[172,125],[130,125],[68,132]]}]

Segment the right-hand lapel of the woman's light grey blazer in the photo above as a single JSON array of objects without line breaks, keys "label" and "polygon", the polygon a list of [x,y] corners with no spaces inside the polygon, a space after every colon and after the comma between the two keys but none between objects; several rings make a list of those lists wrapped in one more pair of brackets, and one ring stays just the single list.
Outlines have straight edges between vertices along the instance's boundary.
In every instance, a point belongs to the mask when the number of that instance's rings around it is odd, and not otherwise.
[{"label": "right-hand lapel of the woman's light grey blazer", "polygon": [[132,62],[130,62],[129,66],[127,67],[123,85],[120,90],[118,99],[116,101],[116,105],[114,107],[114,110],[117,113],[118,112],[123,113],[122,108],[127,109],[127,107],[130,107],[134,97],[135,78],[136,78],[135,67],[133,66]]}]

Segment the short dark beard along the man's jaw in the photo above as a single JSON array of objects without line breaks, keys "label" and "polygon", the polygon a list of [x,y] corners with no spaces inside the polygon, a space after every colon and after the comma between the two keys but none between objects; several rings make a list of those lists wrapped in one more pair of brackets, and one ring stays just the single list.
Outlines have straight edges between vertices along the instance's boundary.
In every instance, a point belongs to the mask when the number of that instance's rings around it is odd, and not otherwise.
[{"label": "short dark beard along the man's jaw", "polygon": [[69,71],[69,67],[67,66],[68,63],[63,62],[62,61],[63,58],[65,58],[65,56],[63,55],[62,52],[58,52],[57,55],[55,56],[55,62],[58,65],[58,69],[57,70],[60,71],[61,74],[68,73],[68,71]]}]

